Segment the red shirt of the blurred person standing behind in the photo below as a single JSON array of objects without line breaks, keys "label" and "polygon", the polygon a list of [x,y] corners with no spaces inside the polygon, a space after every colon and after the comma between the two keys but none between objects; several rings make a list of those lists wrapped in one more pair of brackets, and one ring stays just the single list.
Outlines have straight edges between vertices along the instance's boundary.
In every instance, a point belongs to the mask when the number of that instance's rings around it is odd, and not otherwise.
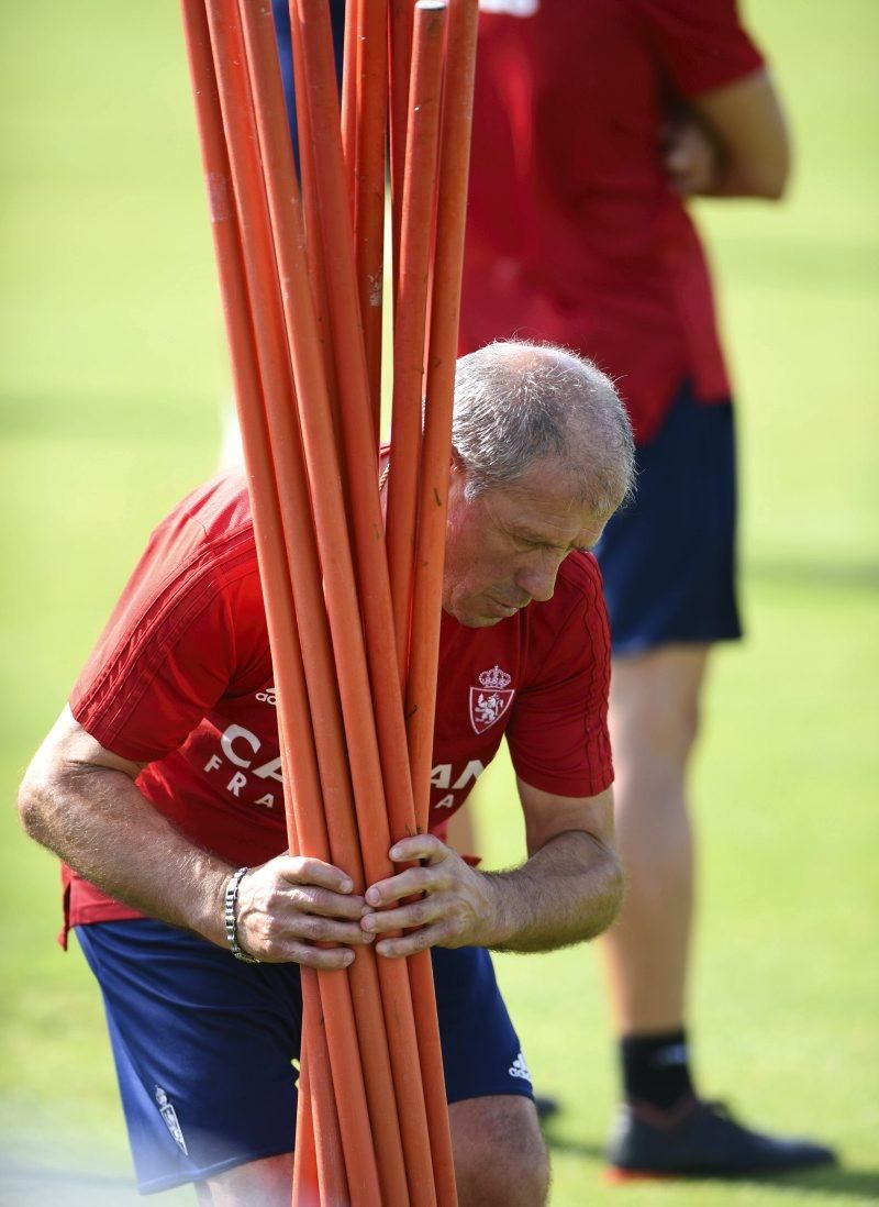
[{"label": "red shirt of the blurred person standing behind", "polygon": [[703,402],[729,390],[662,127],[673,98],[742,78],[762,58],[734,0],[485,7],[462,350],[511,336],[579,349],[617,380],[644,442],[685,378]]}]

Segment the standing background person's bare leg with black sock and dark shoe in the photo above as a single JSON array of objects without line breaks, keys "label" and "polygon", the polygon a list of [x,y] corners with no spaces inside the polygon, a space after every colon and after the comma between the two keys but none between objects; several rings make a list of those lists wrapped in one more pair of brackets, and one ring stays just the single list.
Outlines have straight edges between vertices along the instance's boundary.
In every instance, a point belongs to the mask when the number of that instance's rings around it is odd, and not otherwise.
[{"label": "standing background person's bare leg with black sock and dark shoe", "polygon": [[627,896],[602,939],[625,1103],[610,1143],[617,1177],[736,1176],[820,1165],[832,1153],[769,1136],[698,1100],[687,1049],[693,841],[687,770],[708,646],[614,661],[610,729]]}]

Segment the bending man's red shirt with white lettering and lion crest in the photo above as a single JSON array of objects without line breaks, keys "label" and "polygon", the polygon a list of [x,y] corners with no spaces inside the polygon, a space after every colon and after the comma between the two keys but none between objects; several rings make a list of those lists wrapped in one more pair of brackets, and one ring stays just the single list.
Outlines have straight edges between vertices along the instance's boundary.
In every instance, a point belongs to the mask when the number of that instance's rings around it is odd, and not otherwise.
[{"label": "bending man's red shirt with white lettering and lion crest", "polygon": [[[599,571],[572,554],[553,599],[487,629],[443,617],[430,828],[506,735],[517,775],[594,795],[613,780]],[[236,865],[287,849],[276,698],[247,490],[223,476],[153,532],[70,706],[193,842]],[[70,925],[134,917],[65,869]]]}]

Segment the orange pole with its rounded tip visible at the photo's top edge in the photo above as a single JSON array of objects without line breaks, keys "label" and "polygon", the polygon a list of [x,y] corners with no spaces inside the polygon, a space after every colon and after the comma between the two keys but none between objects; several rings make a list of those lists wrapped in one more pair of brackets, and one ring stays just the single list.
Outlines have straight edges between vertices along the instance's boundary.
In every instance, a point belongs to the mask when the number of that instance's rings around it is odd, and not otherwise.
[{"label": "orange pole with its rounded tip visible at the photo's top edge", "polygon": [[405,684],[415,553],[415,520],[424,393],[424,332],[430,275],[436,152],[443,97],[446,5],[418,0],[403,176],[399,276],[394,322],[394,391],[387,483],[387,562],[397,661]]}]

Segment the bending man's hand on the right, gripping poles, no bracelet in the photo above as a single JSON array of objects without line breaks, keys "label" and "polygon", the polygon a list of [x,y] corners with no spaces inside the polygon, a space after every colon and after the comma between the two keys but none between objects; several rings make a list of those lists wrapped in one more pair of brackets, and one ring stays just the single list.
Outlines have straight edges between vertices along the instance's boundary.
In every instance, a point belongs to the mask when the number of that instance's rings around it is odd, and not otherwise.
[{"label": "bending man's hand on the right, gripping poles, no bracelet", "polygon": [[[423,859],[424,863],[380,880],[367,890],[368,906],[376,912],[364,914],[359,925],[370,938],[377,938],[377,955],[411,956],[424,947],[487,945],[493,933],[494,904],[485,875],[432,834],[400,839],[391,849],[391,859],[393,863]],[[416,894],[418,900],[397,904]],[[414,926],[420,929],[381,938]]]}]

